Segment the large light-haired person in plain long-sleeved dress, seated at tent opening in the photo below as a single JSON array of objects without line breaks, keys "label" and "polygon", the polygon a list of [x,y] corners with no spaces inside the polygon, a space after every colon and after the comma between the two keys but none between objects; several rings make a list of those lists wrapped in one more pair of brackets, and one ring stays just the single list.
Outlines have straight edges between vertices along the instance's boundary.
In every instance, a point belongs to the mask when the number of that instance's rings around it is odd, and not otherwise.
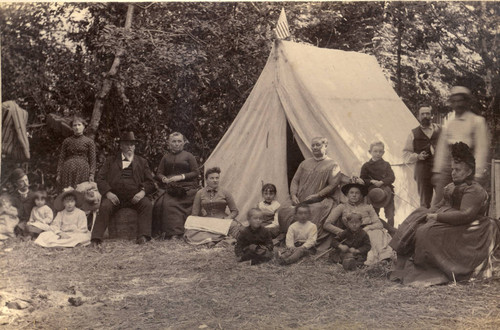
[{"label": "large light-haired person in plain long-sleeved dress, seated at tent opening", "polygon": [[[327,156],[328,140],[315,137],[311,141],[313,157],[300,163],[290,185],[292,204],[310,205],[311,222],[318,227],[318,241],[329,233],[323,230],[323,223],[330,211],[339,204],[338,186],[342,178],[340,167]],[[278,211],[282,232],[294,222],[294,208],[284,207]]]}]

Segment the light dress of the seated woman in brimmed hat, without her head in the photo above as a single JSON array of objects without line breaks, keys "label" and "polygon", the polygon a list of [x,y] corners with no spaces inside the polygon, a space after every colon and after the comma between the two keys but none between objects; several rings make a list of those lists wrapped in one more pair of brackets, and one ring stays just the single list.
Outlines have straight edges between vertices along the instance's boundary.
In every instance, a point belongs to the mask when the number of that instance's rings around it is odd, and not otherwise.
[{"label": "light dress of the seated woman in brimmed hat, without her head", "polygon": [[338,205],[326,219],[325,230],[336,235],[340,234],[347,228],[347,218],[352,213],[361,215],[363,230],[370,237],[371,249],[366,256],[365,265],[373,265],[381,260],[391,258],[394,255],[394,251],[389,246],[391,236],[384,229],[373,206],[364,202]]}]

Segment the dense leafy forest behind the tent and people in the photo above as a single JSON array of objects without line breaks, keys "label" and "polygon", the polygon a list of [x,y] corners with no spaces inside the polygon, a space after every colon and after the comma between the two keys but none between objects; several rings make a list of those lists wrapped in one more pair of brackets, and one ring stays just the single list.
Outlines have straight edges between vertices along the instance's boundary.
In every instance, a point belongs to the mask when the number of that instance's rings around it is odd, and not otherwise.
[{"label": "dense leafy forest behind the tent and people", "polygon": [[89,119],[100,162],[129,128],[153,168],[173,131],[203,163],[264,68],[282,7],[295,41],[374,55],[414,114],[443,116],[449,88],[469,87],[500,157],[498,2],[1,3],[2,100],[29,112],[30,169],[54,183],[64,137],[43,124],[65,111]]}]

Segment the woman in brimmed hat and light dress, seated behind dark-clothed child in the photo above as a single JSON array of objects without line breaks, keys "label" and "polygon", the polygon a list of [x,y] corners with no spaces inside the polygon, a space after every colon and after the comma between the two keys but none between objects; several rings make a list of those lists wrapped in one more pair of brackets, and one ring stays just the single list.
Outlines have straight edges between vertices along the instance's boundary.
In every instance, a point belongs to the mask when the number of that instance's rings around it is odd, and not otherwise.
[{"label": "woman in brimmed hat and light dress, seated behind dark-clothed child", "polygon": [[366,265],[372,265],[384,259],[390,259],[394,252],[389,246],[391,237],[384,229],[373,207],[366,204],[364,197],[368,193],[365,185],[349,183],[341,188],[347,202],[338,205],[325,221],[323,229],[334,235],[340,235],[347,228],[350,214],[361,215],[363,230],[370,237],[371,249],[368,252]]}]

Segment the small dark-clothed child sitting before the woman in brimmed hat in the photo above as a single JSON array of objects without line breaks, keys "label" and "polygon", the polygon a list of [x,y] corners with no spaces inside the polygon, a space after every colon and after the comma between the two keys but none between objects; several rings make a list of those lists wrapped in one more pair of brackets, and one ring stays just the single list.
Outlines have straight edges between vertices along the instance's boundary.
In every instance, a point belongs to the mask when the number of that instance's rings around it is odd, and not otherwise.
[{"label": "small dark-clothed child sitting before the woman in brimmed hat", "polygon": [[363,266],[371,249],[370,237],[361,228],[361,214],[351,213],[347,217],[347,229],[332,240],[330,261],[342,263],[345,270]]}]

